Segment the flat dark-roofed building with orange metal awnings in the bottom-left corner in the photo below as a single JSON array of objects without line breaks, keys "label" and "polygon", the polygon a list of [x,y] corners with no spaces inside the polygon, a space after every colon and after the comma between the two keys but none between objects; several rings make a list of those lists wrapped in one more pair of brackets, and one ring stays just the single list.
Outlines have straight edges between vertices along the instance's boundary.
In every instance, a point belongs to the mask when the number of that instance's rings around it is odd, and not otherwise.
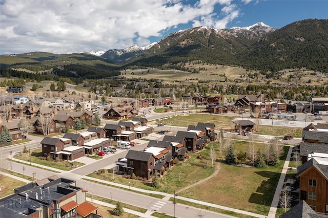
[{"label": "flat dark-roofed building with orange metal awnings in the bottom-left corner", "polygon": [[92,217],[98,207],[87,202],[87,190],[76,182],[52,176],[14,189],[0,199],[0,217]]}]

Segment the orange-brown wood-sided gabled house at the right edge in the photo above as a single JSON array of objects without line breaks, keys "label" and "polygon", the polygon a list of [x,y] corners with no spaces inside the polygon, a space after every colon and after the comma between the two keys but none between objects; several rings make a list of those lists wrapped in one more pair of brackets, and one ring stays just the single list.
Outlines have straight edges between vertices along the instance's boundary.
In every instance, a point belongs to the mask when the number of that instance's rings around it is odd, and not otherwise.
[{"label": "orange-brown wood-sided gabled house at the right edge", "polygon": [[328,213],[328,154],[312,157],[297,167],[299,200],[316,212]]}]

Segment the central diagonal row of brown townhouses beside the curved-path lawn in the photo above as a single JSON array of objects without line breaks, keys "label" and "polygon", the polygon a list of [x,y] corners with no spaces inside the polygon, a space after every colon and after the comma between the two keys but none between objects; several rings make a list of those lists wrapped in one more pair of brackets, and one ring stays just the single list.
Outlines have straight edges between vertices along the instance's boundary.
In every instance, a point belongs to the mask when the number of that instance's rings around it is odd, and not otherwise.
[{"label": "central diagonal row of brown townhouses beside the curved-path lawn", "polygon": [[[173,160],[185,161],[187,152],[202,150],[216,138],[213,123],[198,123],[188,126],[187,131],[178,131],[175,136],[166,135],[161,141],[151,140],[142,151],[129,150],[125,158],[115,164],[117,171],[150,180],[161,176],[173,166]],[[157,172],[157,175],[155,173]]]}]

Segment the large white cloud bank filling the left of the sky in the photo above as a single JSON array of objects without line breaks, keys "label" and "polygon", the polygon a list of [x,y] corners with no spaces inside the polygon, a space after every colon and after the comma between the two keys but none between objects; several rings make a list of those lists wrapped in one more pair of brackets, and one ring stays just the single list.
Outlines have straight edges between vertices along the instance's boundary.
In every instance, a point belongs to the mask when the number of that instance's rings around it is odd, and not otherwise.
[{"label": "large white cloud bank filling the left of the sky", "polygon": [[225,28],[238,13],[231,0],[4,0],[0,48],[58,54],[145,46],[180,24]]}]

